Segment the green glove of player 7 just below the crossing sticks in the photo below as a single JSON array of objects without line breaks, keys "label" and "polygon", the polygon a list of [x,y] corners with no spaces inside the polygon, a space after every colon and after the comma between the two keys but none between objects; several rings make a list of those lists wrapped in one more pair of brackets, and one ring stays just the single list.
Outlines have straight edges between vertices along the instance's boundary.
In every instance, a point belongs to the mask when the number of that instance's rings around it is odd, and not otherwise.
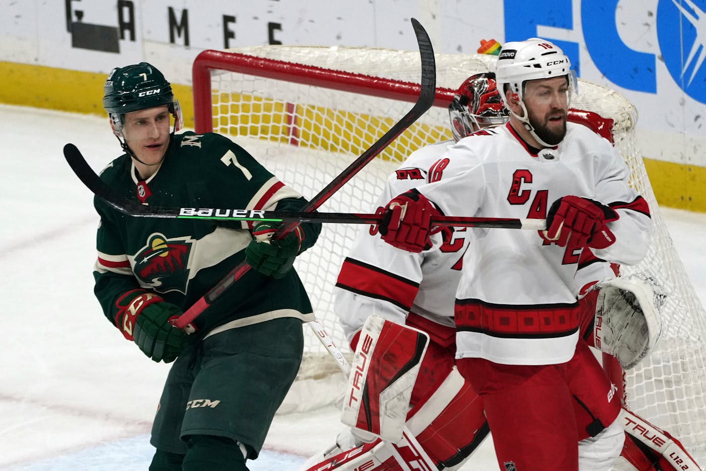
[{"label": "green glove of player 7 just below the crossing sticks", "polygon": [[273,240],[280,223],[263,222],[253,228],[253,240],[245,249],[245,261],[258,272],[273,278],[284,277],[294,264],[301,247],[301,229]]}]

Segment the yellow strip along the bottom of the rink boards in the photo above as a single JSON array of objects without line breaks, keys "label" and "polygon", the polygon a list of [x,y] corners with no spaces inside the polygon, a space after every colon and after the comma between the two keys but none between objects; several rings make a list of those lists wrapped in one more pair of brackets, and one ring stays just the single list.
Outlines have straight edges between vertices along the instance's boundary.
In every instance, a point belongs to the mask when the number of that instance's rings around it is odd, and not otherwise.
[{"label": "yellow strip along the bottom of the rink boards", "polygon": [[[106,76],[107,74],[0,62],[0,103],[104,116],[102,95]],[[193,129],[191,87],[172,84],[172,88],[181,103],[186,127]],[[240,106],[253,107],[253,110],[258,112],[253,113],[248,120],[241,119],[236,123],[230,116],[238,111]],[[261,110],[274,112],[261,114]],[[220,105],[214,111],[221,113],[220,117],[214,117],[214,125],[220,129],[227,127],[227,134],[264,136],[269,133],[268,139],[289,141],[294,126],[297,127],[301,141],[311,139],[311,145],[315,144],[324,150],[348,151],[356,155],[363,153],[382,132],[394,124],[392,119],[378,118],[367,122],[360,131],[352,133],[346,122],[366,122],[364,115],[334,112],[317,106],[285,110],[284,104],[272,100],[268,102],[265,99],[244,98],[242,103]],[[302,120],[301,124],[287,122],[288,115],[285,111],[299,114],[306,119]],[[409,132],[402,134],[385,149],[383,158],[400,160],[405,157],[405,149],[414,149],[416,146],[450,138],[448,129],[422,129],[424,132],[414,135]],[[644,160],[650,184],[660,205],[706,212],[706,192],[703,192],[706,187],[706,167],[647,158]]]}]

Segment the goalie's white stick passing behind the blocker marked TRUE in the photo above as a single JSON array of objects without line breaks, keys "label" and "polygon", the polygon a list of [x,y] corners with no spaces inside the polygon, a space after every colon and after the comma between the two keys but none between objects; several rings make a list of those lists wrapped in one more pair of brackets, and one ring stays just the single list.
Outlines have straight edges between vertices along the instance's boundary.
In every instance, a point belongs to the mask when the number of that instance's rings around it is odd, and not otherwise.
[{"label": "goalie's white stick passing behind the blocker marked TRUE", "polygon": [[[345,376],[349,376],[351,372],[351,365],[348,363],[345,356],[343,356],[340,349],[336,347],[336,344],[333,342],[333,339],[331,339],[331,337],[328,335],[328,332],[326,332],[323,325],[321,325],[321,322],[318,322],[318,320],[312,320],[306,323],[309,325],[309,327],[311,327],[311,330],[316,333],[316,336],[326,348],[328,353],[333,356],[333,359],[336,361],[336,364],[341,369],[342,373]],[[402,432],[402,441],[400,441],[400,443],[390,443],[382,439],[381,443],[385,448],[388,449],[390,455],[392,455],[395,460],[397,460],[397,464],[400,465],[402,471],[436,471],[436,465],[433,463],[431,458],[429,458],[429,455],[426,453],[424,448],[421,447],[419,441],[417,441],[417,438],[414,437],[414,434],[409,431],[409,428],[407,428],[406,425],[404,431]],[[404,458],[402,456],[402,453],[400,453],[400,450],[402,450],[402,448],[407,448],[409,453],[414,456],[414,459],[407,460],[406,458]],[[348,458],[355,457],[357,457],[356,454],[351,454]],[[326,467],[325,469],[335,470],[338,466],[343,464],[346,463],[339,462],[336,465],[333,465],[333,467]]]}]

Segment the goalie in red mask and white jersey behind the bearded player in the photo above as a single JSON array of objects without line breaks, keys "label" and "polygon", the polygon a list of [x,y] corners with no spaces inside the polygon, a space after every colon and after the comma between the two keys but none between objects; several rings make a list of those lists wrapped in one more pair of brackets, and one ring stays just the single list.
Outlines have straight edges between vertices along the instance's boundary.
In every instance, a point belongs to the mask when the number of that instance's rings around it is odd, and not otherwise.
[{"label": "goalie in red mask and white jersey behind the bearded player", "polygon": [[[508,120],[508,111],[503,107],[496,90],[494,74],[477,74],[467,79],[455,95],[449,111],[455,141],[481,128],[504,124]],[[571,116],[574,115],[579,113],[572,113]],[[390,175],[381,194],[380,204],[385,204],[395,194],[428,182],[433,175],[430,169],[438,165],[441,153],[453,142],[444,141],[412,153]],[[465,228],[461,228],[455,231],[453,238],[444,241],[442,250],[405,254],[383,243],[376,236],[374,228],[371,231],[361,231],[343,264],[336,289],[336,310],[353,344],[357,343],[357,336],[366,318],[373,313],[429,333],[431,342],[419,373],[418,384],[413,391],[407,426],[424,443],[424,449],[439,470],[459,468],[488,434],[481,400],[453,367],[455,330],[451,316],[455,286],[460,279],[461,259],[467,248],[465,236]],[[581,276],[578,276],[583,280],[580,286],[590,286],[613,273],[609,264],[592,257],[590,252],[586,253],[589,256],[580,262],[580,267],[583,267],[579,271]],[[593,318],[597,293],[598,290],[590,292],[585,302],[582,301],[587,310],[590,310],[587,319]],[[590,327],[587,332],[591,332]],[[586,378],[587,381],[609,388],[599,368],[577,368],[576,373],[579,377],[585,377],[587,371],[592,373],[592,376]],[[578,404],[580,395],[577,397]],[[635,428],[634,424],[640,419],[627,411],[623,412],[626,417],[623,421]],[[596,419],[613,421],[616,411],[612,409],[603,412],[602,417],[585,417],[586,426],[590,426]],[[634,422],[630,424],[631,421]],[[640,421],[640,424],[647,423]],[[650,424],[647,426],[652,427]],[[362,446],[361,441],[357,440],[350,429],[345,429],[331,446],[310,458],[301,470],[357,469],[349,457],[375,455],[376,443],[366,444],[361,452],[357,450]],[[653,468],[652,464],[657,463],[657,455],[661,453],[655,454],[643,448],[640,450],[632,441],[626,441],[623,455],[629,463],[635,465],[626,469],[658,469]],[[604,460],[597,453],[596,441],[592,438],[581,441],[580,452],[581,470],[600,469],[598,463]],[[378,453],[377,458],[384,464],[366,469],[402,469],[393,458],[386,458],[384,453]],[[665,463],[662,466],[664,470],[676,469]]]}]

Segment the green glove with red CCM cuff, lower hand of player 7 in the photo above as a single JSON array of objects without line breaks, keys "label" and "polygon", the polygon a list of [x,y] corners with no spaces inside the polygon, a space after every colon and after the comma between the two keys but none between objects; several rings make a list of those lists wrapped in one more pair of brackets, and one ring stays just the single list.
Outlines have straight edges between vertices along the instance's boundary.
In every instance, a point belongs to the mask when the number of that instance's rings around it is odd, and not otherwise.
[{"label": "green glove with red CCM cuff, lower hand of player 7", "polygon": [[178,306],[143,289],[120,296],[116,306],[115,325],[126,339],[153,361],[171,363],[177,359],[186,343],[186,332],[173,327],[169,319],[182,314]]}]

